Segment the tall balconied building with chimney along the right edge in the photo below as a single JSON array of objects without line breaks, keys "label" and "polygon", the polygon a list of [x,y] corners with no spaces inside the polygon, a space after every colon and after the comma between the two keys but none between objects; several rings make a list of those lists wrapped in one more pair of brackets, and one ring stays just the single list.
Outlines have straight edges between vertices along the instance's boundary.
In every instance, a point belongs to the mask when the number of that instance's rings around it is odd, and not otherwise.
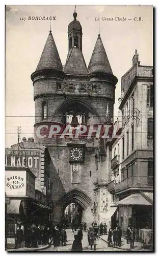
[{"label": "tall balconied building with chimney along the right edge", "polygon": [[[142,66],[137,50],[133,66],[121,78],[121,137],[112,141],[109,191],[118,224],[152,229],[153,204],[153,67]],[[116,178],[117,179],[117,178]]]}]

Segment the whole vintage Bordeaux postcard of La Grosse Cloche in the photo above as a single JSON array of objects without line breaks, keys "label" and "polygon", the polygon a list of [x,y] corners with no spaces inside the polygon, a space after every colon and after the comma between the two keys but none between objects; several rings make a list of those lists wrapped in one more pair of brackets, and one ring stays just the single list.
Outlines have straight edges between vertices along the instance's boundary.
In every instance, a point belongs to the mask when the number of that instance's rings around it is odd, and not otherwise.
[{"label": "whole vintage Bordeaux postcard of La Grosse Cloche", "polygon": [[153,6],[5,11],[6,250],[153,251]]}]

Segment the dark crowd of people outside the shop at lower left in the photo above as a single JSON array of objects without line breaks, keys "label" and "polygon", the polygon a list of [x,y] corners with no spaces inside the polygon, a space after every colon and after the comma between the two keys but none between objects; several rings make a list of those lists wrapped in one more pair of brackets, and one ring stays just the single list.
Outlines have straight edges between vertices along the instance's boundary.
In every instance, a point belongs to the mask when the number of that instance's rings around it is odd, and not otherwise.
[{"label": "dark crowd of people outside the shop at lower left", "polygon": [[21,247],[21,243],[25,242],[25,247],[37,248],[38,245],[45,245],[49,243],[52,233],[51,229],[46,225],[28,225],[24,230],[21,229],[21,225],[16,230],[15,248]]}]

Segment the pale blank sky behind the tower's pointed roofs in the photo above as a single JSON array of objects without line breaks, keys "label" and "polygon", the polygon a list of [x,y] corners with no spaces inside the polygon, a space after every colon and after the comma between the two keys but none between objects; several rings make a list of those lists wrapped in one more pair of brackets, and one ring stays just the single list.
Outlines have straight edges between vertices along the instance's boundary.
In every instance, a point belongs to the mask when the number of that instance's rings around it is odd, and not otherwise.
[{"label": "pale blank sky behind the tower's pointed roofs", "polygon": [[[141,65],[153,66],[152,6],[76,6],[83,29],[83,55],[88,66],[98,35],[106,49],[113,74],[118,78],[114,115],[118,114],[121,76],[132,66],[135,49]],[[6,11],[6,147],[17,143],[17,125],[22,137],[34,137],[33,85],[48,33],[49,21],[28,20],[29,16],[56,16],[51,30],[63,65],[68,53],[68,24],[74,6],[7,6]],[[25,22],[20,17],[26,17]],[[126,21],[103,21],[102,17],[124,17]],[[141,17],[142,21],[135,21]],[[131,20],[128,20],[131,19]],[[114,120],[116,117],[114,117]]]}]

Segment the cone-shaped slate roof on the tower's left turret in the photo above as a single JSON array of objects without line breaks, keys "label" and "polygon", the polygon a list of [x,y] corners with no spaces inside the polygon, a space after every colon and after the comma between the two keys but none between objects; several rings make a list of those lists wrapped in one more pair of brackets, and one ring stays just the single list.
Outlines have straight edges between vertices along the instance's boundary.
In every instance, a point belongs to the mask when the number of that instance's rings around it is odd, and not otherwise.
[{"label": "cone-shaped slate roof on the tower's left turret", "polygon": [[37,69],[55,69],[55,70],[63,70],[62,62],[59,57],[59,53],[52,37],[51,31],[49,31],[48,38],[46,40],[40,61],[38,63]]}]

